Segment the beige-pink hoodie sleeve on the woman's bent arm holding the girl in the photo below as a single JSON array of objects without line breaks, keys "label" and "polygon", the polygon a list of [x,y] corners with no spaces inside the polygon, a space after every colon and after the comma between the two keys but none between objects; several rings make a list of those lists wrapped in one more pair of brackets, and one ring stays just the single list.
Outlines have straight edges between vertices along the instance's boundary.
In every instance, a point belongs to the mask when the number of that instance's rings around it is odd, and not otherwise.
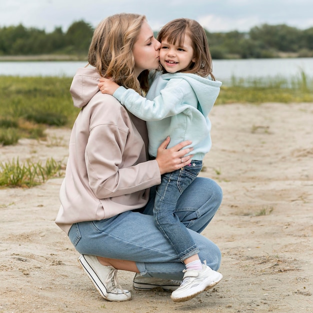
[{"label": "beige-pink hoodie sleeve on the woman's bent arm holding the girl", "polygon": [[146,161],[142,139],[136,137],[128,113],[118,105],[120,109],[113,108],[117,113],[111,120],[107,120],[107,115],[110,110],[112,116],[112,108],[104,108],[104,104],[90,118],[85,162],[89,186],[99,199],[130,194],[160,183],[157,161]]}]

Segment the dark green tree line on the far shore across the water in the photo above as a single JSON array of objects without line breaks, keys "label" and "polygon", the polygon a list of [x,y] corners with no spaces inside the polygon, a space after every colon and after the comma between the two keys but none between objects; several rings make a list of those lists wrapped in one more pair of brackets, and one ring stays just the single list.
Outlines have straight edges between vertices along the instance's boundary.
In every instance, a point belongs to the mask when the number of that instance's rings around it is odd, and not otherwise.
[{"label": "dark green tree line on the far shore across the water", "polygon": [[[66,32],[17,26],[0,27],[0,56],[60,54],[86,58],[94,28],[74,21]],[[262,24],[248,32],[209,32],[205,29],[213,59],[313,57],[313,27],[300,30],[286,24]],[[156,34],[156,32],[155,32]]]}]

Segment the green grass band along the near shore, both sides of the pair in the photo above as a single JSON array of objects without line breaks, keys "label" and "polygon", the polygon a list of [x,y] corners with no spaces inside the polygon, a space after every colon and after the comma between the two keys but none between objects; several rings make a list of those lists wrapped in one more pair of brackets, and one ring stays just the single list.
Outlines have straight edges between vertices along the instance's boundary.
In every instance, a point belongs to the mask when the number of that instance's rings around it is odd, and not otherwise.
[{"label": "green grass band along the near shore, both sides of the pair", "polygon": [[[0,144],[13,144],[16,137],[44,137],[49,125],[71,127],[79,111],[69,93],[71,80],[0,76]],[[313,102],[313,79],[303,71],[291,79],[232,77],[222,85],[216,104],[262,102]]]}]

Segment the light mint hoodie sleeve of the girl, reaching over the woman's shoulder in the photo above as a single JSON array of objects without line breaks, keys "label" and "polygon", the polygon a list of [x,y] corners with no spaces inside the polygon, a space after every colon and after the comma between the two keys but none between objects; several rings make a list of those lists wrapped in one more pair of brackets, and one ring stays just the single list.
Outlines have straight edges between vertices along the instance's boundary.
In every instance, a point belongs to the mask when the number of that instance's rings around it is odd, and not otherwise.
[{"label": "light mint hoodie sleeve of the girl, reaching over the woman's shoulder", "polygon": [[160,120],[176,115],[187,108],[183,103],[184,94],[193,92],[188,82],[181,78],[170,79],[160,91],[160,95],[148,100],[133,89],[120,86],[113,96],[132,114],[146,120]]}]

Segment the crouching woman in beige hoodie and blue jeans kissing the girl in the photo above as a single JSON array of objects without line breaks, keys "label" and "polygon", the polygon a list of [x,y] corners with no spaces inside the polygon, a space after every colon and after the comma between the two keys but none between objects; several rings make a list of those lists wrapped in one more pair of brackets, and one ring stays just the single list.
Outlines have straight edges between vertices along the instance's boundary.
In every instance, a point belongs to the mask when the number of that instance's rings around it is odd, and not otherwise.
[{"label": "crouching woman in beige hoodie and blue jeans kissing the girl", "polygon": [[[154,225],[153,186],[161,174],[189,163],[192,155],[185,155],[192,148],[185,147],[191,141],[166,149],[167,137],[155,159],[147,160],[145,122],[97,86],[101,76],[111,76],[120,85],[146,92],[148,69],[159,65],[159,47],[143,15],[109,16],[94,31],[88,53],[93,67],[78,69],[70,88],[81,111],[70,137],[55,222],[81,253],[79,262],[97,290],[111,301],[130,299],[117,281],[117,269],[140,273],[134,277],[136,289],[175,289],[183,276],[184,264]],[[221,198],[214,181],[197,177],[175,210],[199,246],[200,259],[214,270],[220,251],[199,232]]]}]

